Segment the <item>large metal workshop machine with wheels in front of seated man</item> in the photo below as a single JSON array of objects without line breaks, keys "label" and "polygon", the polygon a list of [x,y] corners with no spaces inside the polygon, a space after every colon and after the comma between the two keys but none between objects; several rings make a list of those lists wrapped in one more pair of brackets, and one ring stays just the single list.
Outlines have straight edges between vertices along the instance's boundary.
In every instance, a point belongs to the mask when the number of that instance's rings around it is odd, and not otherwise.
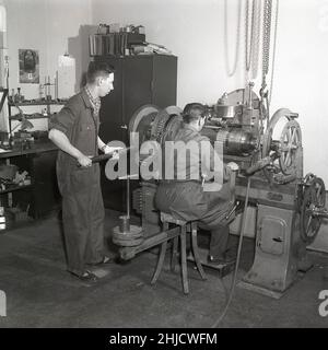
[{"label": "large metal workshop machine with wheels in front of seated man", "polygon": [[[303,175],[298,115],[281,108],[269,118],[261,93],[258,97],[253,88],[249,83],[207,106],[202,133],[212,142],[222,142],[224,162],[239,165],[236,200],[247,201],[257,212],[255,259],[239,285],[280,298],[296,280],[297,271],[311,267],[306,246],[315,240],[323,218],[328,217],[326,191],[319,177]],[[180,122],[180,108],[145,105],[134,113],[129,130],[139,132],[140,144],[147,140],[162,144]],[[124,259],[164,240],[153,206],[156,186],[156,179],[141,180],[133,191],[133,208],[142,218],[142,242],[140,234],[133,241],[133,232],[129,236],[127,231],[120,233],[120,238],[116,230],[116,244],[121,246]]]}]

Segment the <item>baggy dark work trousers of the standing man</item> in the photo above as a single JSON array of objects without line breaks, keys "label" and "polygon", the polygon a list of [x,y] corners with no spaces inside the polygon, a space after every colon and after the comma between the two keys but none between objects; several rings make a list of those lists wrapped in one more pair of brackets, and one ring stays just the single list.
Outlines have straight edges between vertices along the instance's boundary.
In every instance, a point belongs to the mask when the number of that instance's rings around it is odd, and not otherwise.
[{"label": "baggy dark work trousers of the standing man", "polygon": [[77,167],[60,185],[68,270],[81,276],[85,264],[104,258],[105,211],[98,164]]}]

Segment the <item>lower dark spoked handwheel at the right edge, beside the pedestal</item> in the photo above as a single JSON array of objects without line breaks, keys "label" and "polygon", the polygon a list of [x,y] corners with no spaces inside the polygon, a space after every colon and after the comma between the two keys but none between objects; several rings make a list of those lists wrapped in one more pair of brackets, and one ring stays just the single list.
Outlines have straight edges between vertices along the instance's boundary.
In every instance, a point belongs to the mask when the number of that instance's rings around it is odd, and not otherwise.
[{"label": "lower dark spoked handwheel at the right edge, beside the pedestal", "polygon": [[304,184],[301,206],[301,236],[306,244],[314,242],[323,218],[316,214],[316,209],[326,205],[326,189],[321,178],[308,176]]}]

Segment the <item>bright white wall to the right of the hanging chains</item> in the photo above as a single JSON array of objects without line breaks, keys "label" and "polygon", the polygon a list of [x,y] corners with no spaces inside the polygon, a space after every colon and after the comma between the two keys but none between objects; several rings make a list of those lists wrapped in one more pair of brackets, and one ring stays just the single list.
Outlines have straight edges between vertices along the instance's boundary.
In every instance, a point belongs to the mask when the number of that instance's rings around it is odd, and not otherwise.
[{"label": "bright white wall to the right of the hanging chains", "polygon": [[276,86],[272,107],[300,113],[304,171],[328,186],[327,1],[283,0],[280,11]]}]

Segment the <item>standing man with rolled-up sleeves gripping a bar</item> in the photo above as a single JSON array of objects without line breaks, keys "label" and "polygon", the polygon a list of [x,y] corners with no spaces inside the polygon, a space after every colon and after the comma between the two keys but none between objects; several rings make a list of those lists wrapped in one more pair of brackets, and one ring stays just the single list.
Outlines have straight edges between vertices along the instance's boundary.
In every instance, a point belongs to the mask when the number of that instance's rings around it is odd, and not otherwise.
[{"label": "standing man with rolled-up sleeves gripping a bar", "polygon": [[62,221],[68,271],[86,281],[97,277],[86,264],[107,264],[104,254],[104,203],[99,164],[92,156],[113,150],[98,137],[101,97],[114,88],[114,68],[90,62],[86,85],[52,117],[49,139],[60,149],[57,179],[62,196]]}]

